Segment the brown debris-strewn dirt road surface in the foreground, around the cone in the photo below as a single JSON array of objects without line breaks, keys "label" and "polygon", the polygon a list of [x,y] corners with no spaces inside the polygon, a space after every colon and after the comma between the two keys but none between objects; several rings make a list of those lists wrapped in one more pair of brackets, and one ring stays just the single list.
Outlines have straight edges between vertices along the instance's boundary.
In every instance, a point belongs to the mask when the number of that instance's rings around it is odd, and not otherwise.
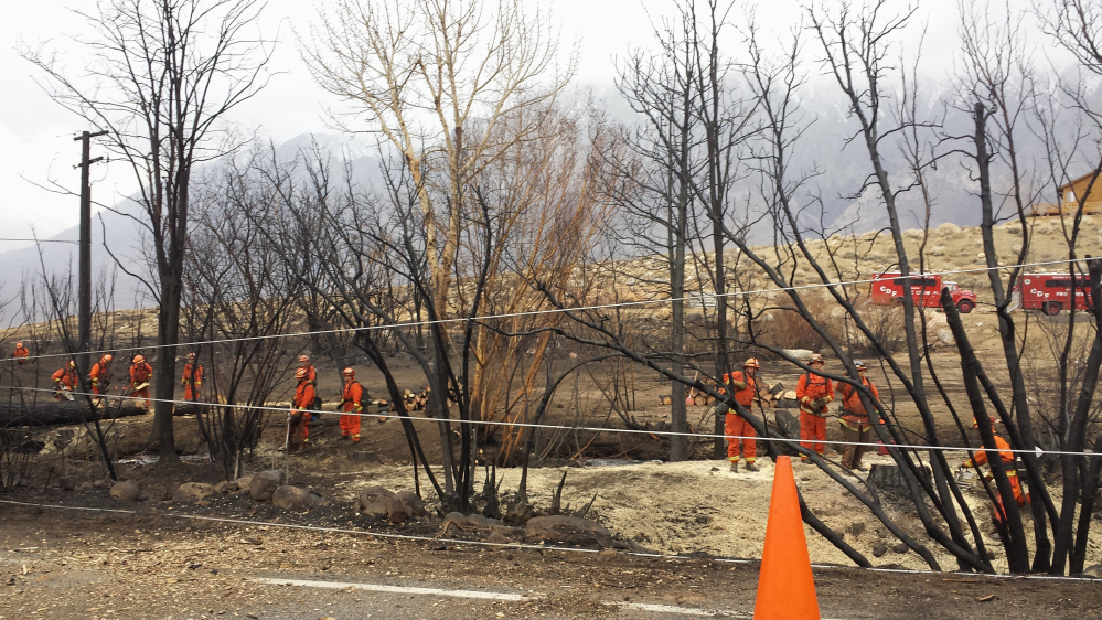
[{"label": "brown debris-strewn dirt road surface in the foreground, around the cone", "polygon": [[[62,500],[55,494],[31,499]],[[0,585],[0,618],[749,618],[757,587],[755,563],[489,550],[181,520],[170,516],[172,509],[190,509],[157,502],[131,507],[137,514],[0,504],[0,579],[6,584]],[[525,599],[479,602],[261,582],[270,578],[466,588],[518,592]],[[1024,620],[1102,613],[1096,581],[828,567],[816,569],[815,581],[824,618],[997,614]],[[642,612],[634,605],[661,605],[666,612]]]}]

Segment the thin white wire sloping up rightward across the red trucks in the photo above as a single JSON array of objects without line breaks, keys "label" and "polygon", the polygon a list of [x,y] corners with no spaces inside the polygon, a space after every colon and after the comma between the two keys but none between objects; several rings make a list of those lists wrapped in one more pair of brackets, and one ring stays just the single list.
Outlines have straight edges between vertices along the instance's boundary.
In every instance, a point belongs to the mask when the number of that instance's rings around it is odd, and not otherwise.
[{"label": "thin white wire sloping up rightward across the red trucks", "polygon": [[[955,276],[961,274],[980,274],[987,271],[997,271],[1004,269],[1021,269],[1026,267],[1044,267],[1049,265],[1068,265],[1072,263],[1081,263],[1084,259],[1061,259],[1061,260],[1045,260],[1040,263],[1021,263],[1017,265],[1002,265],[998,267],[978,267],[975,269],[953,269],[948,271],[928,271],[926,274],[913,274],[913,277],[918,276]],[[328,335],[328,334],[339,334],[339,333],[357,333],[362,331],[377,331],[377,330],[390,330],[390,329],[404,329],[404,328],[416,328],[416,327],[431,327],[431,325],[443,325],[443,324],[454,324],[454,323],[466,323],[466,322],[479,322],[489,320],[502,320],[502,319],[515,319],[520,317],[535,317],[544,314],[563,314],[569,312],[588,312],[592,310],[609,310],[609,309],[624,309],[624,308],[639,308],[645,306],[653,306],[659,303],[672,303],[674,301],[695,301],[698,299],[718,299],[718,298],[738,298],[738,297],[749,297],[753,295],[764,295],[770,292],[781,292],[781,291],[796,291],[796,290],[809,290],[809,289],[820,289],[820,288],[833,288],[833,287],[846,287],[853,285],[871,284],[878,281],[876,279],[859,279],[859,280],[846,280],[838,282],[821,282],[813,285],[800,285],[791,287],[779,287],[779,288],[768,288],[768,289],[756,289],[746,291],[734,291],[726,293],[715,293],[715,292],[702,292],[692,296],[678,297],[678,298],[666,298],[666,299],[649,299],[642,301],[621,301],[617,303],[600,303],[593,306],[578,306],[575,308],[550,308],[547,310],[526,310],[523,312],[507,312],[503,314],[486,314],[481,317],[461,317],[454,319],[436,319],[429,321],[402,321],[389,324],[382,325],[364,325],[359,328],[339,328],[332,330],[314,330],[314,331],[302,331],[302,332],[289,332],[279,334],[268,334],[268,335],[252,335],[252,336],[240,336],[240,338],[224,338],[214,340],[200,340],[193,342],[180,342],[176,344],[149,344],[147,346],[120,346],[117,349],[105,349],[100,351],[90,351],[89,354],[103,354],[103,353],[117,353],[121,351],[146,351],[150,349],[165,349],[165,348],[188,348],[188,346],[199,346],[204,344],[226,344],[231,342],[253,342],[261,340],[278,340],[281,338],[295,338],[295,336],[310,336],[310,335]],[[919,288],[919,287],[914,287]],[[44,360],[49,357],[72,357],[72,353],[47,353],[41,355],[30,355],[24,357],[24,360]]]}]

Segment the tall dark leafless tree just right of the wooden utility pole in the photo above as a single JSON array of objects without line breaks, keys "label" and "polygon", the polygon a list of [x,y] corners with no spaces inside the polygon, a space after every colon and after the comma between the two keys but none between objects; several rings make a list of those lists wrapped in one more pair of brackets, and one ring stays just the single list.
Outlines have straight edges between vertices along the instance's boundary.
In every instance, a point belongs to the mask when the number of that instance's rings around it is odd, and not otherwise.
[{"label": "tall dark leafless tree just right of the wooden utility pole", "polygon": [[[266,84],[270,57],[256,30],[256,0],[105,0],[79,12],[87,35],[74,75],[47,50],[23,56],[49,77],[49,93],[98,130],[139,185],[149,278],[158,303],[154,436],[175,459],[172,395],[194,167],[234,151],[226,115]],[[119,265],[124,268],[122,265]]]}]

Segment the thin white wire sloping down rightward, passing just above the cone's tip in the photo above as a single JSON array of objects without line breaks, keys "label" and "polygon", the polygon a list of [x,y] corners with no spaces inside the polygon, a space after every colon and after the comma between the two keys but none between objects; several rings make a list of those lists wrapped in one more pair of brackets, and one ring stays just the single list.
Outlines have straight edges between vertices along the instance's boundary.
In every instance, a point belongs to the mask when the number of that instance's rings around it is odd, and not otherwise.
[{"label": "thin white wire sloping down rightward, passing just above the cone's tip", "polygon": [[[50,387],[17,387],[17,386],[11,386],[11,385],[0,385],[0,389],[12,389],[12,391],[23,389],[23,391],[28,391],[28,392],[49,392],[49,393],[55,393],[56,392],[56,389],[53,389],[53,388],[50,388]],[[268,406],[260,406],[260,405],[229,405],[229,404],[225,404],[225,403],[200,403],[200,402],[196,402],[196,400],[176,400],[176,399],[169,399],[169,398],[145,398],[142,396],[121,396],[121,395],[114,396],[114,395],[105,395],[105,394],[93,394],[90,392],[73,392],[73,391],[69,391],[68,393],[72,394],[73,396],[90,396],[93,398],[104,398],[106,400],[111,400],[111,399],[119,399],[119,400],[149,400],[151,403],[171,403],[173,405],[196,405],[196,406],[201,406],[201,407],[223,407],[223,408],[228,408],[228,409],[259,410],[259,411],[269,411],[269,413],[276,413],[276,411],[280,411],[280,410],[283,409],[283,407],[279,406],[279,405],[268,405]],[[495,421],[495,420],[461,420],[461,419],[450,419],[450,418],[449,419],[440,419],[440,418],[430,418],[430,417],[425,417],[425,416],[410,416],[408,414],[405,415],[405,416],[399,416],[398,414],[386,415],[386,414],[363,414],[363,413],[355,414],[355,413],[350,413],[350,411],[314,411],[314,410],[307,410],[307,409],[295,409],[295,410],[301,410],[303,413],[311,413],[311,414],[321,414],[321,415],[325,415],[325,416],[356,416],[356,417],[362,417],[362,418],[387,418],[387,419],[388,418],[399,418],[399,419],[400,418],[405,418],[405,419],[415,420],[415,421],[418,421],[418,420],[419,421],[435,421],[435,423],[447,421],[449,424],[459,424],[459,425],[470,424],[470,425],[477,425],[477,426],[514,426],[514,427],[520,427],[520,428],[546,428],[546,429],[552,429],[552,430],[573,430],[573,431],[582,430],[582,431],[590,431],[590,432],[613,432],[613,434],[623,434],[623,435],[649,435],[649,436],[664,436],[664,437],[693,437],[693,438],[696,438],[696,439],[755,439],[757,441],[773,441],[773,442],[777,442],[777,443],[795,443],[795,445],[799,445],[801,441],[803,441],[803,439],[788,439],[788,438],[782,438],[782,437],[762,437],[762,436],[748,436],[748,435],[716,435],[716,434],[706,434],[706,432],[676,432],[676,431],[673,431],[673,430],[646,430],[646,429],[636,429],[636,428],[614,428],[614,427],[610,428],[610,427],[599,427],[599,426],[566,426],[566,425],[555,425],[555,424],[510,423],[510,421]],[[289,411],[290,411],[290,408],[288,408],[288,413]],[[762,418],[764,418],[764,416],[762,416]],[[890,443],[889,445],[889,443],[870,443],[870,442],[862,442],[862,441],[817,441],[817,440],[814,441],[814,442],[815,443],[833,443],[835,446],[864,446],[866,448],[881,448],[882,447],[882,448],[899,448],[899,449],[902,449],[902,450],[923,450],[923,451],[940,450],[940,451],[943,451],[943,452],[973,452],[973,451],[982,451],[984,449],[983,447],[978,447],[978,448],[956,448],[956,447],[952,447],[952,446],[923,446],[923,445],[919,445],[919,443]],[[1040,448],[1035,448],[1033,450],[999,449],[998,451],[1001,451],[1001,452],[1012,452],[1012,453],[1016,453],[1016,455],[1021,453],[1021,455],[1037,455],[1037,456],[1057,455],[1057,456],[1071,456],[1071,457],[1102,457],[1102,455],[1099,455],[1096,452],[1068,452],[1068,451],[1062,451],[1062,450],[1041,450]]]}]

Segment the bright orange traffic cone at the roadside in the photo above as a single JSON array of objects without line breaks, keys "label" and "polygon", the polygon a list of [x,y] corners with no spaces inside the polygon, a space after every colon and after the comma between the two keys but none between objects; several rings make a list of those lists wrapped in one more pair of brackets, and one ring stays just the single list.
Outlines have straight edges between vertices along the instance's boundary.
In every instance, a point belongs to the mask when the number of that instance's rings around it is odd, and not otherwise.
[{"label": "bright orange traffic cone at the roadside", "polygon": [[758,574],[755,620],[819,620],[815,579],[803,535],[800,496],[789,457],[778,457],[769,500],[766,548]]}]

